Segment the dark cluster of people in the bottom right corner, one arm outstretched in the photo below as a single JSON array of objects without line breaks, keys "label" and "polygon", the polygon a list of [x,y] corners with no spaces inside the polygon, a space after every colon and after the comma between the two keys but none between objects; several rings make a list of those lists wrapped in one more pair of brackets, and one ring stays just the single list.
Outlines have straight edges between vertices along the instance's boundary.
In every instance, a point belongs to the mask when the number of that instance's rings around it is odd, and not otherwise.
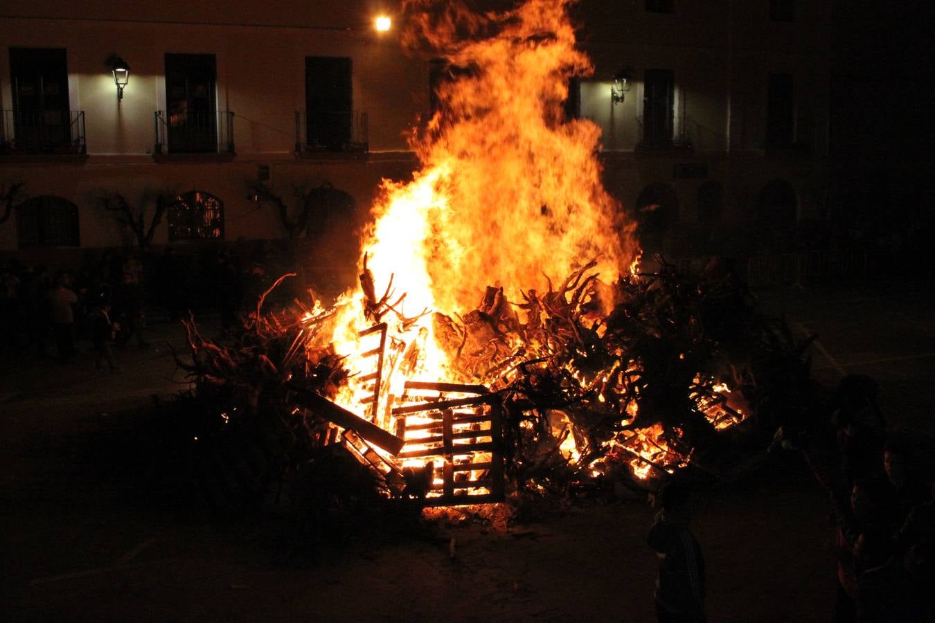
[{"label": "dark cluster of people in the bottom right corner, one arm outstretched", "polygon": [[833,437],[793,444],[827,490],[834,517],[835,620],[935,620],[931,466],[923,446],[887,425],[876,398],[870,377],[844,377]]}]

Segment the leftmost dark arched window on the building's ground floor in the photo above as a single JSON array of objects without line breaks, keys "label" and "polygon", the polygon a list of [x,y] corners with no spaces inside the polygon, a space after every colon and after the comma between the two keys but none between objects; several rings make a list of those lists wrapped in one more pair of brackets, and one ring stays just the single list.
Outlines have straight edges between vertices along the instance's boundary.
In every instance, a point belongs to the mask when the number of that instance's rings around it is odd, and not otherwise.
[{"label": "leftmost dark arched window on the building's ground floor", "polygon": [[52,195],[27,199],[16,206],[20,248],[80,247],[78,205]]}]

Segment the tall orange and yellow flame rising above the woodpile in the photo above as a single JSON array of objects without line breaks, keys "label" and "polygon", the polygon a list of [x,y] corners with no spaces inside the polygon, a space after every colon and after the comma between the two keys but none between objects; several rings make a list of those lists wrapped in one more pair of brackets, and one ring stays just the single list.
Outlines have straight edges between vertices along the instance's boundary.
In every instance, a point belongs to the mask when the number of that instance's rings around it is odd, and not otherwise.
[{"label": "tall orange and yellow flame rising above the woodpile", "polygon": [[515,296],[593,259],[611,281],[632,262],[632,228],[600,182],[600,132],[564,116],[569,78],[591,71],[569,4],[476,15],[459,2],[407,3],[404,46],[461,70],[412,140],[414,181],[384,183],[365,233],[376,281],[395,274],[410,313],[463,312],[495,281]]}]

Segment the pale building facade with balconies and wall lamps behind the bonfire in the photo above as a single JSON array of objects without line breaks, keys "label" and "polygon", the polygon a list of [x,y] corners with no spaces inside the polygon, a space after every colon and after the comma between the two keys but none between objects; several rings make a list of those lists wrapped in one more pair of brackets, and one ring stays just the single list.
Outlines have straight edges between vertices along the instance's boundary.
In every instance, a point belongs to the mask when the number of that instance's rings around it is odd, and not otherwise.
[{"label": "pale building facade with balconies and wall lamps behind the bonfire", "polygon": [[[172,199],[154,245],[285,237],[257,183],[294,210],[312,201],[337,213],[332,234],[353,248],[381,178],[412,171],[406,135],[432,106],[432,64],[403,54],[396,29],[373,27],[394,9],[9,0],[0,181],[24,192],[0,225],[0,251],[29,261],[50,248],[132,245],[103,207],[116,193],[150,212]],[[569,110],[601,128],[606,185],[648,248],[753,252],[752,224],[771,235],[823,219],[829,10],[794,0],[573,7],[595,73],[573,83]],[[130,77],[118,98],[121,60]],[[628,91],[615,97],[622,70]]]}]

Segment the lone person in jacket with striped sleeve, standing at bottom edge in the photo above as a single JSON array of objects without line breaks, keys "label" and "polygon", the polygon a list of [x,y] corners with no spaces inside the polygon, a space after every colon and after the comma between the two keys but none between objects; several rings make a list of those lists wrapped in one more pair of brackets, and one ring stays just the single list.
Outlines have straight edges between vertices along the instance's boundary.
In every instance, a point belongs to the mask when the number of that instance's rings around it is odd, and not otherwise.
[{"label": "lone person in jacket with striped sleeve, standing at bottom edge", "polygon": [[704,559],[689,530],[688,488],[672,483],[650,495],[659,512],[647,541],[659,559],[655,612],[660,623],[698,623],[704,615]]}]

